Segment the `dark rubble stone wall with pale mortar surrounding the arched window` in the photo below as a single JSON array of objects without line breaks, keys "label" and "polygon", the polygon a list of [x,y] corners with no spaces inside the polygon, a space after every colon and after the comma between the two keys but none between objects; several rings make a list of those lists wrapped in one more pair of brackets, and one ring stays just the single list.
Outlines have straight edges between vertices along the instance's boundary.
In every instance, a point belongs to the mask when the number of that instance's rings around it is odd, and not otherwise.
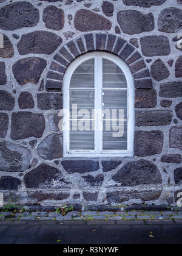
[{"label": "dark rubble stone wall with pale mortar surrounding the arched window", "polygon": [[[177,202],[182,191],[181,0],[0,1],[0,191],[27,205]],[[63,158],[70,63],[123,59],[135,79],[134,158]]]}]

